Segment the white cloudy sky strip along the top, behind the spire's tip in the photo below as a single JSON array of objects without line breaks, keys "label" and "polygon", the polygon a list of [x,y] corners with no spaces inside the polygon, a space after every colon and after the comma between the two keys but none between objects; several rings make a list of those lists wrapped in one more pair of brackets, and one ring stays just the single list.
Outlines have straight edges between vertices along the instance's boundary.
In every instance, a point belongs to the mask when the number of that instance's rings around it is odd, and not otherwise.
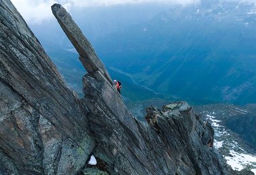
[{"label": "white cloudy sky strip along the top, behind the spire's tip", "polygon": [[26,22],[40,24],[44,20],[53,18],[51,5],[60,3],[69,11],[76,7],[90,7],[97,5],[119,5],[127,3],[168,3],[169,5],[190,5],[200,0],[11,0],[20,11]]}]

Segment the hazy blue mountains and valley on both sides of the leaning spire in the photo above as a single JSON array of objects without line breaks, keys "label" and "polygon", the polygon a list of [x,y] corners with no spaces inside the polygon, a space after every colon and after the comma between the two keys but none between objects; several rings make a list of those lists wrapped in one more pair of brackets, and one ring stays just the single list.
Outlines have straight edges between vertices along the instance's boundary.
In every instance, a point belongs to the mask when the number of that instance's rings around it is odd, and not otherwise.
[{"label": "hazy blue mountains and valley on both sides of the leaning spire", "polygon": [[[255,13],[253,3],[201,1],[185,7],[95,7],[71,14],[113,78],[124,81],[123,96],[129,100],[151,96],[247,104],[256,99]],[[33,31],[67,81],[74,73],[82,75],[63,32],[39,27],[32,26]],[[69,84],[75,88],[79,82],[72,78]]]}]

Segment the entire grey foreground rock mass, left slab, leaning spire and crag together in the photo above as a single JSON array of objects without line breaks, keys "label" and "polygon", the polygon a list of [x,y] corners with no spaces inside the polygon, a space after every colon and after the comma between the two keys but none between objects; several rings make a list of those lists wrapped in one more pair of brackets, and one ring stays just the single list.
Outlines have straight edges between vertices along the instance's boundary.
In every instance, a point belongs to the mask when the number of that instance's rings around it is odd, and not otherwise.
[{"label": "entire grey foreground rock mass, left slab, leaning spire and crag together", "polygon": [[52,9],[88,71],[84,98],[11,2],[0,1],[0,174],[225,174],[212,127],[186,102],[151,106],[148,124],[133,118],[71,16]]}]

